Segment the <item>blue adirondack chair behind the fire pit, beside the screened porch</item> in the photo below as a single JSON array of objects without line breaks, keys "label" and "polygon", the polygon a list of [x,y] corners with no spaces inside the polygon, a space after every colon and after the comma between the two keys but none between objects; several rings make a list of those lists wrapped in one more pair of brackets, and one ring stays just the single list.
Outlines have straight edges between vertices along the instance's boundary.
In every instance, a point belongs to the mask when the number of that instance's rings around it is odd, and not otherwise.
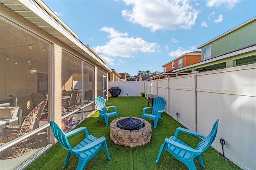
[{"label": "blue adirondack chair behind the fire pit, beside the screened porch", "polygon": [[[110,118],[112,116],[116,116],[116,118],[118,118],[116,107],[115,106],[106,106],[105,99],[103,97],[97,97],[94,100],[94,104],[96,106],[96,110],[100,112],[98,121],[101,117],[104,117],[106,126],[108,126],[108,118]],[[114,112],[108,113],[107,107],[113,108]]]}]

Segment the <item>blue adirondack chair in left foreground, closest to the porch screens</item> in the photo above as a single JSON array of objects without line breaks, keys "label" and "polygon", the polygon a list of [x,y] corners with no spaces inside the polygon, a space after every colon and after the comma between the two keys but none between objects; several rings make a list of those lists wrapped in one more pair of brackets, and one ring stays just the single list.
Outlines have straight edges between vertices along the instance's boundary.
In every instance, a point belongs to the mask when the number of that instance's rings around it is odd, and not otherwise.
[{"label": "blue adirondack chair in left foreground, closest to the porch screens", "polygon": [[[109,157],[108,146],[104,136],[96,138],[92,135],[89,135],[86,127],[80,127],[65,134],[54,121],[50,121],[50,127],[52,129],[53,135],[58,140],[58,142],[60,142],[61,146],[68,150],[68,154],[62,169],[67,166],[68,159],[70,158],[71,154],[76,156],[76,158],[79,158],[79,162],[76,168],[77,170],[84,169],[84,166],[87,164],[87,162],[89,162],[102,148],[105,148],[108,160],[111,159]],[[72,148],[68,142],[68,137],[82,131],[85,132],[86,138],[78,145],[74,146],[74,148]]]}]

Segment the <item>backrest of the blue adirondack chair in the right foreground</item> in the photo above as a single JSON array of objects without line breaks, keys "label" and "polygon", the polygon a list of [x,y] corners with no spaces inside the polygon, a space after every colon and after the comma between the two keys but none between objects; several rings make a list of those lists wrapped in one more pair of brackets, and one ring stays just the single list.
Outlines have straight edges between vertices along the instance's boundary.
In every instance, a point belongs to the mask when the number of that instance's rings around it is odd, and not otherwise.
[{"label": "backrest of the blue adirondack chair in the right foreground", "polygon": [[214,123],[212,130],[208,134],[208,136],[197,144],[195,148],[196,150],[201,150],[202,152],[204,152],[207,148],[209,148],[209,146],[211,146],[217,134],[218,122],[219,122],[219,119],[217,119],[217,121]]}]

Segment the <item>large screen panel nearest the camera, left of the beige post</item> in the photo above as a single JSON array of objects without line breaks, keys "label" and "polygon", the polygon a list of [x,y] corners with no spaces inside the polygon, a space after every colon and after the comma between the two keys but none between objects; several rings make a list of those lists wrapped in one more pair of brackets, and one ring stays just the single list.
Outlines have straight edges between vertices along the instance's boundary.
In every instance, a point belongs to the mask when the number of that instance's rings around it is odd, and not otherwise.
[{"label": "large screen panel nearest the camera, left of the beige post", "polygon": [[[0,140],[4,144],[48,123],[48,115],[51,115],[48,111],[50,103],[47,101],[50,90],[48,79],[51,78],[48,70],[52,45],[3,18],[0,18],[0,35],[0,106],[4,109],[12,107],[9,109],[14,109],[15,113],[14,119],[5,117],[10,121],[0,125]],[[44,104],[38,106],[42,102]],[[44,107],[41,113],[35,111],[38,107]],[[22,119],[24,116],[27,119]],[[29,119],[30,117],[33,119]],[[1,118],[3,118],[2,112]],[[30,128],[20,133],[20,125],[25,124],[30,125]],[[12,125],[12,128],[8,125]],[[12,133],[12,129],[16,131]],[[0,164],[8,164],[8,169],[16,169],[34,156],[48,144],[46,129],[33,135],[32,138],[27,138],[26,142],[22,141],[14,145],[26,148],[29,143],[34,144],[35,148],[31,150],[34,152],[26,149],[22,152],[25,153],[24,155],[17,152],[13,155],[18,156],[19,161],[12,161],[12,156],[5,153],[16,151],[9,147],[1,151],[1,154],[10,156],[10,159],[1,159]]]}]

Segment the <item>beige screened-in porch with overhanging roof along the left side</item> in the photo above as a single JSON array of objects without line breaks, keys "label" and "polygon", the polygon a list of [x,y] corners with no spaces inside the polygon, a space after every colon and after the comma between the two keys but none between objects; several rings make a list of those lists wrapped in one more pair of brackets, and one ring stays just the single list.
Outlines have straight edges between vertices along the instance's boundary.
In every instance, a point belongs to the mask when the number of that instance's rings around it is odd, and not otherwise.
[{"label": "beige screened-in porch with overhanging roof along the left side", "polygon": [[22,169],[55,142],[50,120],[68,132],[107,99],[111,69],[42,1],[0,3],[0,164]]}]

